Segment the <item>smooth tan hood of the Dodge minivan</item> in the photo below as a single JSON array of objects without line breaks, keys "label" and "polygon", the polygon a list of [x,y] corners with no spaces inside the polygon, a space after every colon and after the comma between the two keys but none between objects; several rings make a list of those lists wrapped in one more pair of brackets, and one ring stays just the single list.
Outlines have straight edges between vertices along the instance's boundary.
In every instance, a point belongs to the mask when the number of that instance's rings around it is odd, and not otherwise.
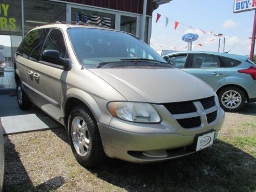
[{"label": "smooth tan hood of the Dodge minivan", "polygon": [[214,95],[202,80],[179,69],[89,69],[128,101],[166,103]]}]

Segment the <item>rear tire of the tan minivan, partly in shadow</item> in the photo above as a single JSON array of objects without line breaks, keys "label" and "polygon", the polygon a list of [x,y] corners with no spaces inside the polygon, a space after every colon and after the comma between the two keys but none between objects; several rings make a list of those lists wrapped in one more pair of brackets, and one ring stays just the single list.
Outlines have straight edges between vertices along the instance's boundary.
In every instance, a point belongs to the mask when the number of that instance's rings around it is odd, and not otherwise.
[{"label": "rear tire of the tan minivan, partly in shadow", "polygon": [[22,84],[20,81],[17,82],[16,95],[19,109],[29,110],[31,109],[33,103],[29,100],[27,94],[22,89]]}]

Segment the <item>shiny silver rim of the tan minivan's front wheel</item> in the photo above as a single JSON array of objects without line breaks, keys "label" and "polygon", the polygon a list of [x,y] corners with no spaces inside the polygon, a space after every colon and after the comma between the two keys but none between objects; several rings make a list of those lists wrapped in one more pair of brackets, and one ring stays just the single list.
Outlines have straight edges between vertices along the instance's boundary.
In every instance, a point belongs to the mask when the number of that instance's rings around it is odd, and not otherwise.
[{"label": "shiny silver rim of the tan minivan's front wheel", "polygon": [[71,125],[72,141],[76,152],[80,156],[86,156],[89,150],[89,132],[86,122],[79,116],[76,116]]}]

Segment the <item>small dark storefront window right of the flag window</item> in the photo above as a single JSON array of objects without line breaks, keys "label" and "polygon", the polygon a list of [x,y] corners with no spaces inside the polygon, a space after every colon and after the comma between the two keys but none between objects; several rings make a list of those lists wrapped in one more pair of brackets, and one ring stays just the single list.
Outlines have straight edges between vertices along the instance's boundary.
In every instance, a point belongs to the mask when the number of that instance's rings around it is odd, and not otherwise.
[{"label": "small dark storefront window right of the flag window", "polygon": [[127,33],[132,33],[136,36],[136,24],[137,24],[137,17],[130,17],[121,15],[121,31],[125,31]]}]

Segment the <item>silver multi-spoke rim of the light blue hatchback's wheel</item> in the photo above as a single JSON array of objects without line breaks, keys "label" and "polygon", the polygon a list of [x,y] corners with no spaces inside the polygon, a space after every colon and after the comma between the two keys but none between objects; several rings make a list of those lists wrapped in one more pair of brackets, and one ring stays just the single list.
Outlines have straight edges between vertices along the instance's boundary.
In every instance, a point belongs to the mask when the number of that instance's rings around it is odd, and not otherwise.
[{"label": "silver multi-spoke rim of the light blue hatchback's wheel", "polygon": [[223,93],[221,102],[226,108],[235,109],[241,104],[242,97],[237,91],[229,90]]}]

